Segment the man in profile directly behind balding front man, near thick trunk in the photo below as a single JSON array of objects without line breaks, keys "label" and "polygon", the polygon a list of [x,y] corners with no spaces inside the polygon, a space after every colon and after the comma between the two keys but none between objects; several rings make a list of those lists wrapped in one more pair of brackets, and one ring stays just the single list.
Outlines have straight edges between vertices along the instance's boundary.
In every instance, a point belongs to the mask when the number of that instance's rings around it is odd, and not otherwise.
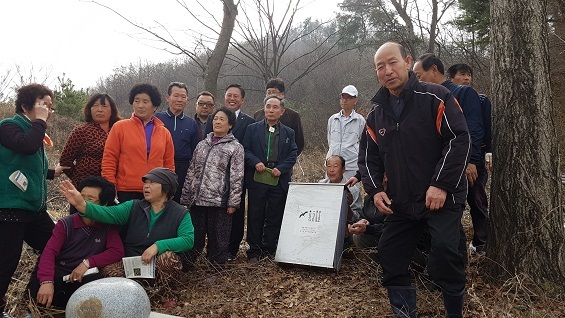
[{"label": "man in profile directly behind balding front man, near thick trunk", "polygon": [[[471,208],[470,214],[473,221],[471,250],[474,249],[476,252],[482,253],[488,235],[488,210],[486,205],[477,206],[475,204],[475,194],[483,188],[479,177],[484,178],[484,175],[479,173],[485,169],[484,155],[481,152],[485,130],[479,94],[469,86],[456,85],[446,80],[443,63],[438,57],[430,53],[424,54],[416,60],[414,73],[416,73],[420,81],[445,86],[457,98],[459,105],[463,109],[472,142],[471,157],[466,171],[467,179],[469,180],[467,202]],[[482,191],[484,192],[484,189]]]}]

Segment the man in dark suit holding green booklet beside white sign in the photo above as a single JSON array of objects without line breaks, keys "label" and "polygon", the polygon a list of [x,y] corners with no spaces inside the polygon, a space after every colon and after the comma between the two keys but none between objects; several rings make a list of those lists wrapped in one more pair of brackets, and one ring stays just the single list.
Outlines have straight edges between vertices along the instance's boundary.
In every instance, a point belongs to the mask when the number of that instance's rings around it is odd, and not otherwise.
[{"label": "man in dark suit holding green booklet beside white sign", "polygon": [[[275,255],[288,182],[298,153],[294,130],[280,122],[284,100],[272,95],[265,98],[264,104],[265,119],[249,125],[243,139],[245,184],[249,189],[247,258],[251,263]],[[278,180],[272,184],[256,181],[255,174],[264,173]]]}]

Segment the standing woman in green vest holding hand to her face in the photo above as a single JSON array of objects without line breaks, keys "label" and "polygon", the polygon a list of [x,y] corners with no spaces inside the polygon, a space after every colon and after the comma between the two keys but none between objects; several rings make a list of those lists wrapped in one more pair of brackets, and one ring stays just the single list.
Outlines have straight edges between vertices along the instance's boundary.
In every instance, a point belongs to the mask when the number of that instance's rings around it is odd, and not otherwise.
[{"label": "standing woman in green vest holding hand to her face", "polygon": [[[0,312],[25,241],[42,250],[54,223],[47,214],[47,181],[66,167],[49,170],[47,120],[55,111],[53,92],[40,84],[18,90],[16,115],[0,121]],[[4,317],[9,317],[4,313]]]}]

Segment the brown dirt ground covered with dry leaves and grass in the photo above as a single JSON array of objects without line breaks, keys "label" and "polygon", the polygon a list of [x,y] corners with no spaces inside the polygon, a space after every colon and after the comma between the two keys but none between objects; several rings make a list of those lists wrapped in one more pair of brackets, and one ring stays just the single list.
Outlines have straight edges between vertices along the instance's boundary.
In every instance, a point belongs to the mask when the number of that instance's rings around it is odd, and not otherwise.
[{"label": "brown dirt ground covered with dry leaves and grass", "polygon": [[[464,223],[470,223],[467,213]],[[380,284],[380,266],[363,251],[345,253],[336,272],[270,259],[249,264],[243,249],[245,243],[236,262],[224,268],[214,268],[201,257],[192,272],[179,277],[174,290],[148,289],[152,310],[181,317],[392,317]],[[33,251],[24,251],[9,291],[14,317],[25,317],[29,311],[23,289],[35,259]],[[486,282],[481,270],[485,259],[470,256],[465,317],[565,317],[565,295],[527,277],[518,275],[502,284]],[[414,281],[419,317],[443,317],[441,293],[429,290],[424,274],[415,272]],[[55,313],[41,312],[43,317]]]}]

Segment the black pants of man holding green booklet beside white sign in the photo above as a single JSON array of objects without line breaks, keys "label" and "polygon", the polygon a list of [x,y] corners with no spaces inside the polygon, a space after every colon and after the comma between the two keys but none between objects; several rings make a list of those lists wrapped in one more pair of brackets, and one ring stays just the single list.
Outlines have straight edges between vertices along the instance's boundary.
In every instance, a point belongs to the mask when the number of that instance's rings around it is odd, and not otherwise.
[{"label": "black pants of man holding green booklet beside white sign", "polygon": [[247,257],[274,255],[281,231],[287,191],[277,186],[259,185],[248,189]]}]

